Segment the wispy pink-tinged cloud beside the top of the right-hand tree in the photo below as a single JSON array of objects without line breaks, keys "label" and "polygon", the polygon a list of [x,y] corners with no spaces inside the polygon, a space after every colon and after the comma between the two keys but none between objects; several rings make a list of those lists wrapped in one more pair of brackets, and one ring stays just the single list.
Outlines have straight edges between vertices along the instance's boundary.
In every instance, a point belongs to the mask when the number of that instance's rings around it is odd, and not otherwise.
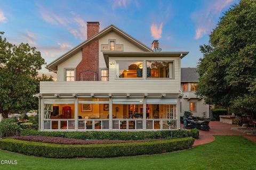
[{"label": "wispy pink-tinged cloud beside the top of the right-hand tree", "polygon": [[[192,18],[196,22],[195,39],[207,35],[215,27],[215,21],[220,17],[224,8],[228,7],[235,0],[217,0],[207,3],[202,10],[193,13]],[[212,2],[212,1],[209,1]]]}]

